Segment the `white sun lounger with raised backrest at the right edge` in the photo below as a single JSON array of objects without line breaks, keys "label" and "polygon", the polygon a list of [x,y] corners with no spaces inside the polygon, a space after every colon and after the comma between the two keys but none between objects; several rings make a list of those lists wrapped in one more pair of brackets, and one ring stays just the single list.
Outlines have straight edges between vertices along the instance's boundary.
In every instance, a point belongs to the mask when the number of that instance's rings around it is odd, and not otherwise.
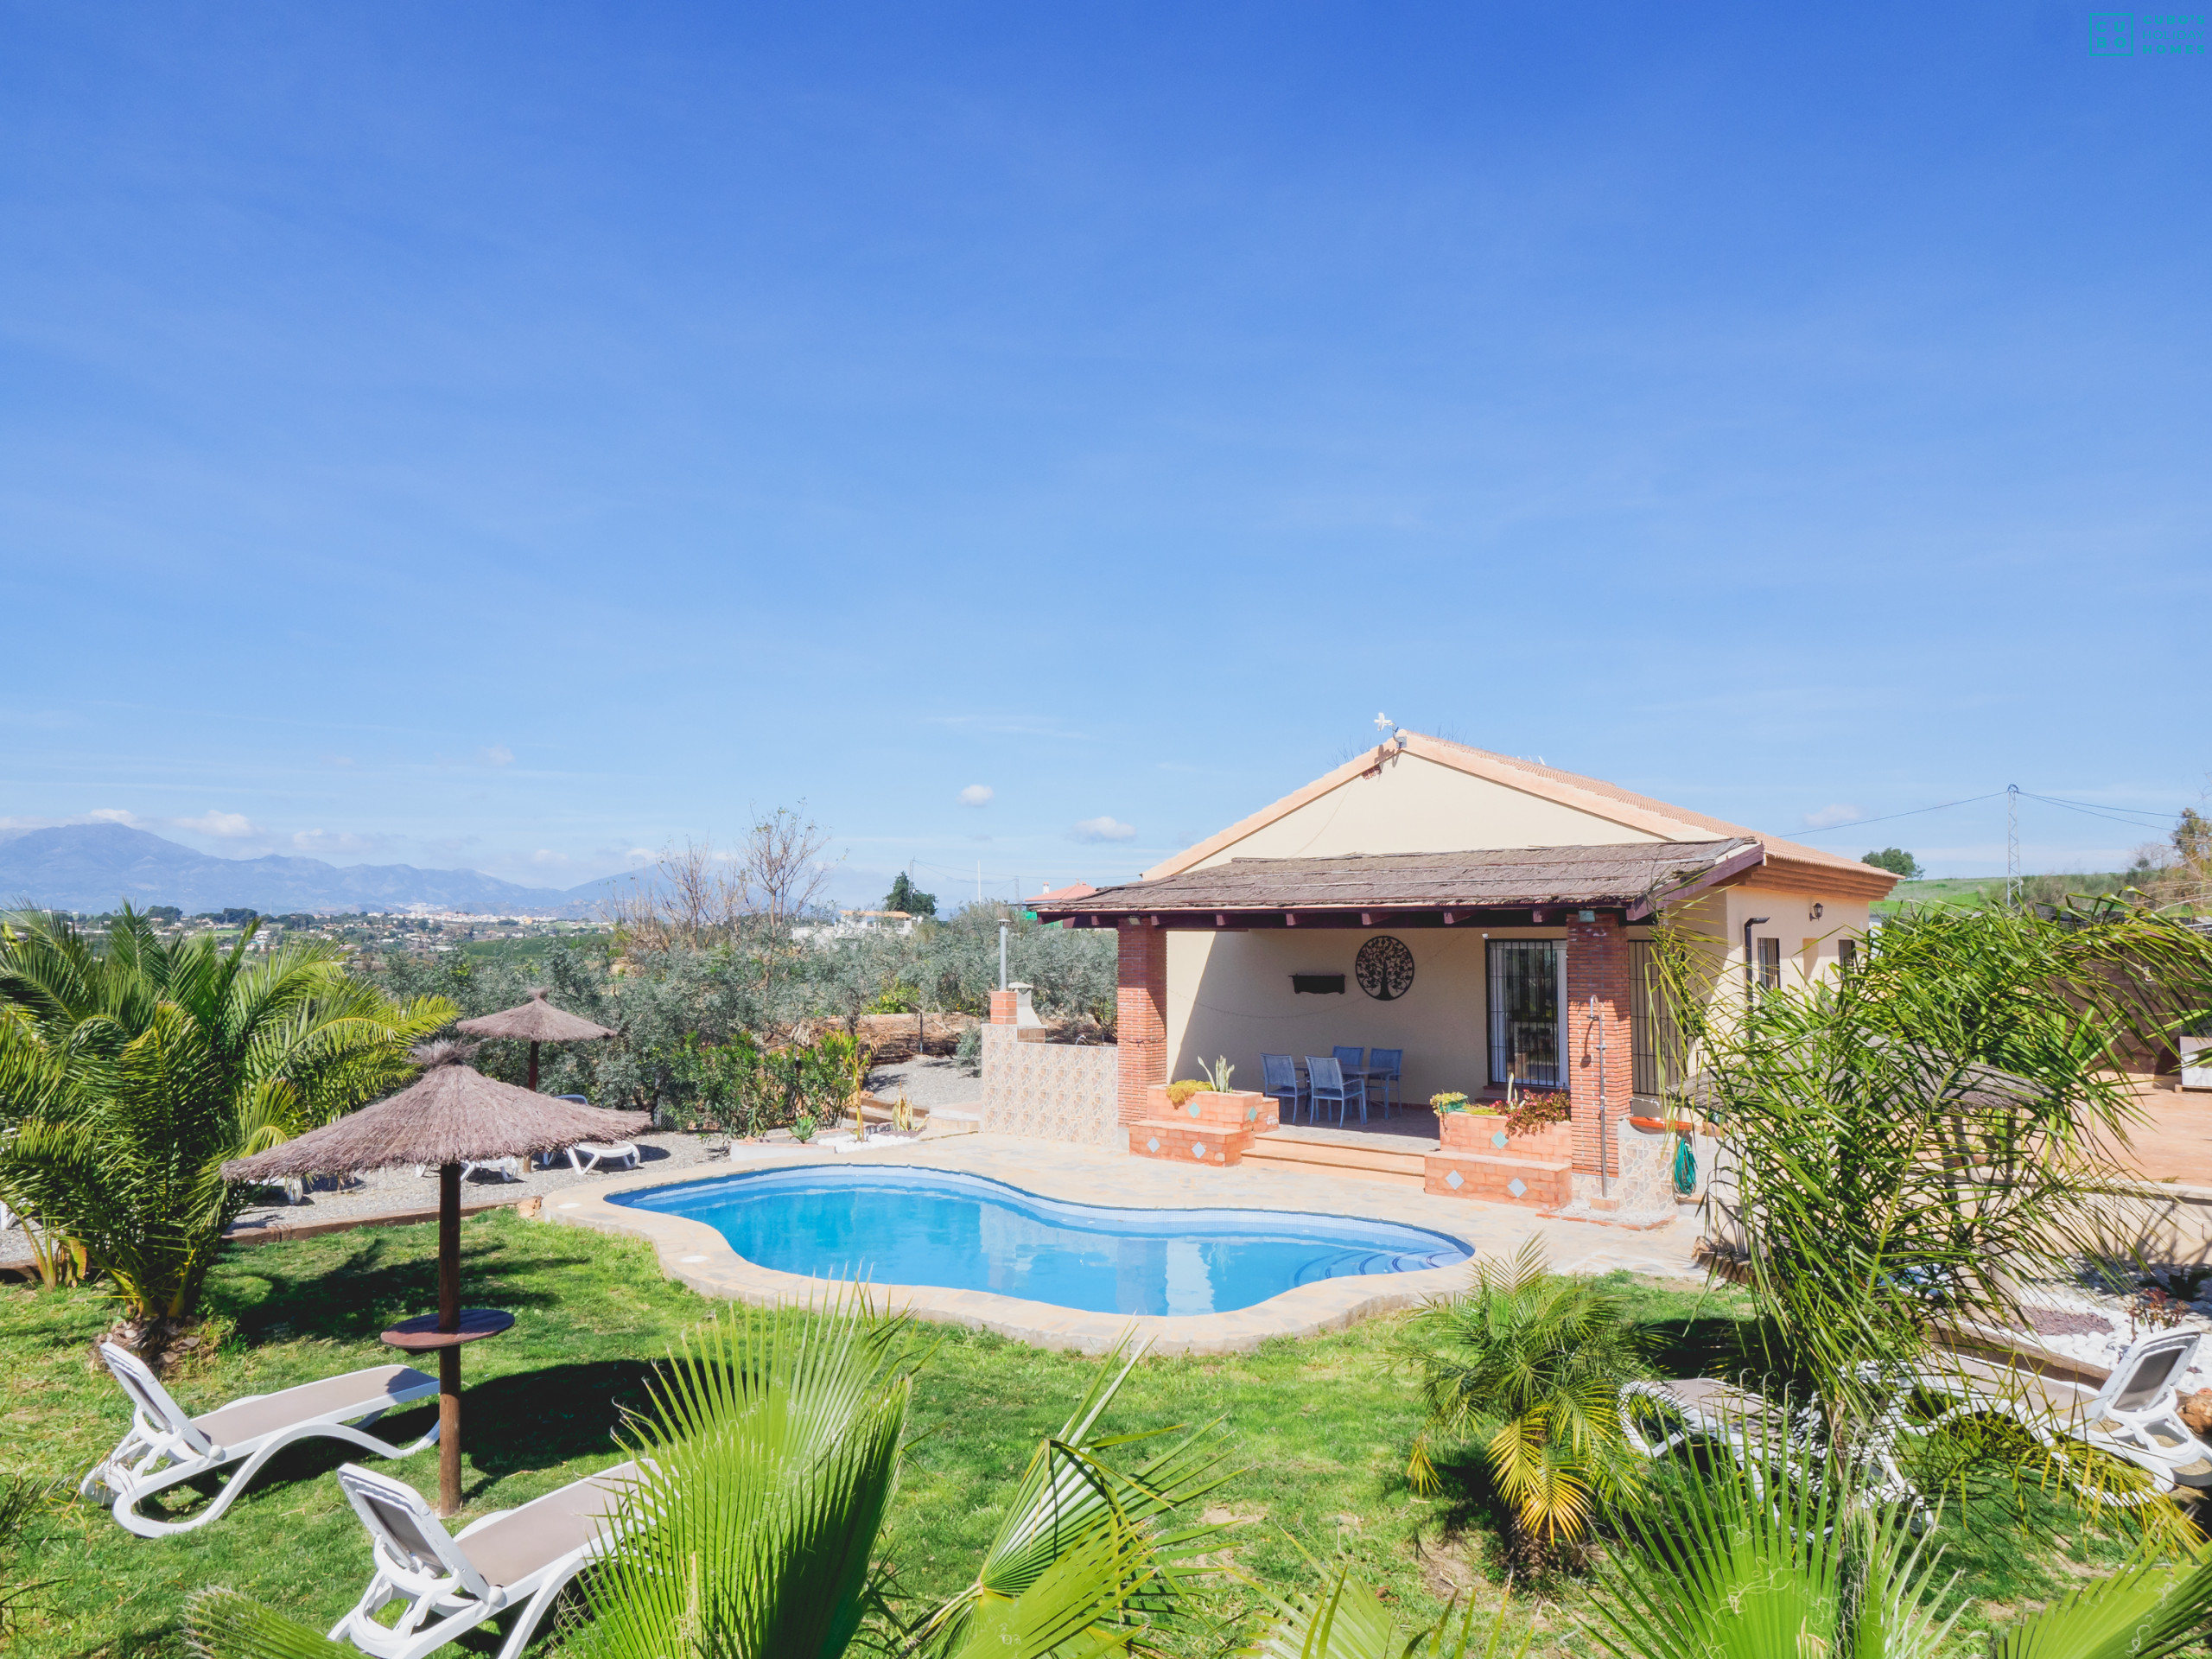
[{"label": "white sun lounger with raised backrest at the right edge", "polygon": [[2199,1332],[2143,1336],[2095,1389],[1953,1352],[1920,1365],[1911,1380],[1958,1405],[1909,1429],[1927,1433],[1958,1418],[2008,1416],[2062,1460],[2062,1442],[2077,1440],[2150,1475],[2148,1489],[2104,1495],[2117,1506],[2146,1504],[2177,1484],[2212,1486],[2212,1447],[2181,1422],[2172,1389],[2197,1343]]}]

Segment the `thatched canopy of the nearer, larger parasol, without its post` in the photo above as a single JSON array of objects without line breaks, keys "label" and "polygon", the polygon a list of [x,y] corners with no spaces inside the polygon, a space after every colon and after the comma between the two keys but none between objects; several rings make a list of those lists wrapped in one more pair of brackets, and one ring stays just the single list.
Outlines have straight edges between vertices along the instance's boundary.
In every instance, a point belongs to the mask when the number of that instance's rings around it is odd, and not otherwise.
[{"label": "thatched canopy of the nearer, larger parasol, without its post", "polygon": [[613,1113],[515,1088],[460,1060],[460,1053],[436,1055],[429,1071],[389,1099],[268,1152],[230,1159],[223,1164],[223,1179],[283,1181],[396,1164],[489,1164],[577,1141],[619,1141],[653,1121],[650,1113]]}]

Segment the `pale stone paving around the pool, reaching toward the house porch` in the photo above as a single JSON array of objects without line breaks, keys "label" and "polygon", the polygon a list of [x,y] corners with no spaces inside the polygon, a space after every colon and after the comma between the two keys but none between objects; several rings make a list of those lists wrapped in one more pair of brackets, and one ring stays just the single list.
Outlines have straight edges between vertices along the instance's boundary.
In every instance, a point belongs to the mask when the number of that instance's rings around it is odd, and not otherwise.
[{"label": "pale stone paving around the pool, reaching toward the house porch", "polygon": [[[1327,1214],[1398,1221],[1433,1228],[1464,1241],[1478,1254],[1517,1250],[1528,1237],[1544,1241],[1551,1263],[1566,1272],[1613,1272],[1617,1267],[1657,1279],[1703,1281],[1690,1263],[1697,1223],[1690,1217],[1650,1232],[1624,1232],[1579,1221],[1544,1219],[1517,1206],[1440,1199],[1405,1188],[1307,1175],[1301,1170],[1199,1170],[1137,1159],[1088,1146],[1020,1139],[1013,1135],[960,1135],[907,1144],[876,1144],[865,1150],[827,1152],[799,1148],[739,1148],[745,1157],[730,1166],[686,1170],[686,1179],[728,1175],[743,1168],[790,1164],[858,1161],[956,1170],[1006,1181],[1051,1199],[1133,1208],[1250,1208],[1321,1210]],[[555,1192],[544,1219],[646,1239],[659,1254],[661,1272],[708,1296],[752,1303],[807,1301],[823,1294],[823,1281],[759,1267],[739,1256],[719,1232],[701,1221],[608,1203],[611,1192],[668,1186],[666,1175],[593,1181]],[[1152,1338],[1159,1354],[1232,1354],[1259,1347],[1272,1336],[1312,1336],[1338,1329],[1369,1314],[1409,1307],[1427,1296],[1458,1290],[1467,1267],[1436,1267],[1411,1274],[1371,1274],[1298,1285],[1270,1301],[1232,1314],[1088,1314],[1046,1303],[995,1296],[980,1290],[931,1285],[878,1285],[894,1307],[920,1318],[989,1329],[1037,1347],[1104,1352],[1124,1332]]]}]

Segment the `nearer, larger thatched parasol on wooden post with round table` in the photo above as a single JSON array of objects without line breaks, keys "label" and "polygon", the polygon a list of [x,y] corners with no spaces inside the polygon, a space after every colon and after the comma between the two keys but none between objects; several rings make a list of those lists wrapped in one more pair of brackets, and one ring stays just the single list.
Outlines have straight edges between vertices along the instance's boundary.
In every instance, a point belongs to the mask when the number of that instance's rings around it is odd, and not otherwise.
[{"label": "nearer, larger thatched parasol on wooden post with round table", "polygon": [[[551,1013],[562,1020],[573,1018],[560,1009]],[[414,1352],[438,1349],[440,1515],[460,1511],[460,1345],[476,1336],[495,1336],[513,1323],[493,1310],[471,1307],[467,1316],[462,1314],[460,1166],[553,1152],[577,1141],[619,1141],[653,1121],[648,1113],[611,1113],[502,1084],[465,1064],[473,1053],[462,1044],[431,1044],[418,1051],[425,1062],[422,1075],[398,1095],[268,1152],[223,1164],[226,1181],[283,1181],[383,1170],[394,1164],[438,1166],[436,1323],[409,1321],[385,1332],[385,1340]]]}]

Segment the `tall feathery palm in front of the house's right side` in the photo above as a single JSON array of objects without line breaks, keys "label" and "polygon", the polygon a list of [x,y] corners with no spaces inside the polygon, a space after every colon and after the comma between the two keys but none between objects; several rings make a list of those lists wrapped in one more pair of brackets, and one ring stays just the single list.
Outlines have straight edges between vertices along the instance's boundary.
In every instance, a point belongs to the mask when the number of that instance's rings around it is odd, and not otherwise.
[{"label": "tall feathery palm in front of the house's right side", "polygon": [[1942,1318],[2004,1325],[2022,1283],[2126,1254],[2119,1060],[2212,1004],[2212,940],[2115,900],[1911,909],[1840,978],[1745,998],[1714,995],[1710,938],[1661,929],[1657,956],[1690,1044],[1670,1071],[1728,1148],[1712,1230],[1741,1230],[1772,1369],[1838,1447],[1942,1360]]}]

